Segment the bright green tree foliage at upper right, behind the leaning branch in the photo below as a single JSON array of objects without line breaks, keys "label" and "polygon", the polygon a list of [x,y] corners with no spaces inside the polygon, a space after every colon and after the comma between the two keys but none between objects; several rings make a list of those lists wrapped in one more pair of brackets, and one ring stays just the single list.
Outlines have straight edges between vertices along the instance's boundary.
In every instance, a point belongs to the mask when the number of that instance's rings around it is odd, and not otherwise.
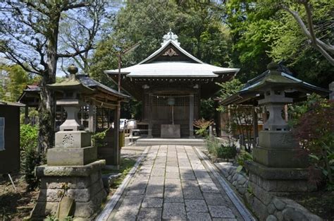
[{"label": "bright green tree foliage at upper right, behind the leaning branch", "polygon": [[[327,0],[308,1],[316,36],[323,42],[333,40],[333,4]],[[284,61],[307,82],[328,86],[333,80],[333,68],[304,36],[297,21],[282,6],[297,11],[306,22],[306,13],[298,1],[231,0],[226,4],[226,21],[233,39],[233,63],[242,69],[238,78],[253,78],[266,70],[272,59]],[[330,72],[330,73],[328,73]]]}]

